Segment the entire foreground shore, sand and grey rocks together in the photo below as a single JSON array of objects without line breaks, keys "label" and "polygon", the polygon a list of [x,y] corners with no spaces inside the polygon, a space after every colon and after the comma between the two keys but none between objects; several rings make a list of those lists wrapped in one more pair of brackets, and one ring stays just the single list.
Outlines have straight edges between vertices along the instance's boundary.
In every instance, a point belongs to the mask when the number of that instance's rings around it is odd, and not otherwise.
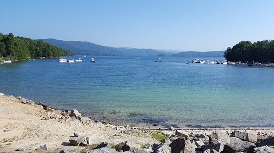
[{"label": "entire foreground shore, sand and grey rocks together", "polygon": [[274,153],[274,128],[116,126],[2,93],[0,106],[0,153]]}]

